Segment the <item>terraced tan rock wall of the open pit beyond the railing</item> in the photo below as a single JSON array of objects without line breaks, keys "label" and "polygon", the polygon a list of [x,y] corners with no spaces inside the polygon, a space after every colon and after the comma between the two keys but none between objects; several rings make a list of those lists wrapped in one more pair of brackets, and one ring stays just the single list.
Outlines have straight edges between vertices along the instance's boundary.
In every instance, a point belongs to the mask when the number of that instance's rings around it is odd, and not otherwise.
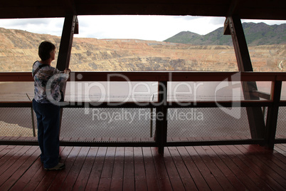
[{"label": "terraced tan rock wall of the open pit beyond the railing", "polygon": [[[0,28],[0,71],[31,71],[38,45],[60,37]],[[250,46],[254,71],[284,71],[286,45]],[[55,66],[56,59],[53,61]],[[72,71],[238,71],[232,46],[74,38]]]}]

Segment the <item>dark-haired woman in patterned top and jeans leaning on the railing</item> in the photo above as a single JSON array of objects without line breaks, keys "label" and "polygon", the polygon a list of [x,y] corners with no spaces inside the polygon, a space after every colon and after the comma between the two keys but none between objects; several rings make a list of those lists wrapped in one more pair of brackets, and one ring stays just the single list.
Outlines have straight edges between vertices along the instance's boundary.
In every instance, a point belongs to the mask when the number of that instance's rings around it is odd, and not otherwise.
[{"label": "dark-haired woman in patterned top and jeans leaning on the railing", "polygon": [[62,97],[60,83],[68,80],[70,69],[66,68],[61,73],[51,66],[55,60],[55,45],[49,41],[43,41],[38,46],[38,56],[41,61],[33,63],[32,76],[35,88],[33,110],[37,117],[41,162],[45,170],[62,170],[65,164],[59,162],[60,105],[56,103]]}]

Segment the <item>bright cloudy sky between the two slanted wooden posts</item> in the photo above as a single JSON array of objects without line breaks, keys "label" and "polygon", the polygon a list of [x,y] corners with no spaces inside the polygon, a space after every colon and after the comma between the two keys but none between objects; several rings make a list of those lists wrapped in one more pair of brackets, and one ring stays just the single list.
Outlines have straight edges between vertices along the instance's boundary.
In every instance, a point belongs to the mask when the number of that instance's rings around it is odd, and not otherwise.
[{"label": "bright cloudy sky between the two slanted wooden posts", "polygon": [[[201,16],[78,16],[79,37],[164,41],[181,31],[206,34],[223,26]],[[213,20],[215,21],[215,20]]]}]

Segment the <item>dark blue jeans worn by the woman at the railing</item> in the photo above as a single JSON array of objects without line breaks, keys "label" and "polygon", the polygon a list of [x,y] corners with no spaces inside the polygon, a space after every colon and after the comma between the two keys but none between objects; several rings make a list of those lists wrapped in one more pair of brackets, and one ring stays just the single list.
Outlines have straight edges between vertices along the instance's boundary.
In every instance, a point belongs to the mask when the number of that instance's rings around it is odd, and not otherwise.
[{"label": "dark blue jeans worn by the woman at the railing", "polygon": [[33,110],[37,115],[38,145],[41,149],[43,167],[55,167],[58,165],[60,148],[60,106],[33,100]]}]

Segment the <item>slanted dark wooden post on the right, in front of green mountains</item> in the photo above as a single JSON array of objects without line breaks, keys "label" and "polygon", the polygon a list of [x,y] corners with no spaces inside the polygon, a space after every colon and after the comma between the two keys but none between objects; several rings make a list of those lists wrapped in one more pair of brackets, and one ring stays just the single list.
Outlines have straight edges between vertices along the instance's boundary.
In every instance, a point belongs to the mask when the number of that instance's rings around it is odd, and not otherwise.
[{"label": "slanted dark wooden post on the right, in front of green mountains", "polygon": [[[235,50],[236,60],[238,61],[239,71],[253,71],[253,66],[250,61],[248,46],[243,32],[243,26],[238,16],[230,16],[226,19],[226,24],[233,39],[233,46]],[[242,82],[243,96],[245,100],[259,100],[258,97],[252,96],[251,91],[257,91],[256,82]],[[264,138],[265,136],[265,123],[263,111],[260,107],[246,108],[248,113],[248,123],[252,138]]]}]

